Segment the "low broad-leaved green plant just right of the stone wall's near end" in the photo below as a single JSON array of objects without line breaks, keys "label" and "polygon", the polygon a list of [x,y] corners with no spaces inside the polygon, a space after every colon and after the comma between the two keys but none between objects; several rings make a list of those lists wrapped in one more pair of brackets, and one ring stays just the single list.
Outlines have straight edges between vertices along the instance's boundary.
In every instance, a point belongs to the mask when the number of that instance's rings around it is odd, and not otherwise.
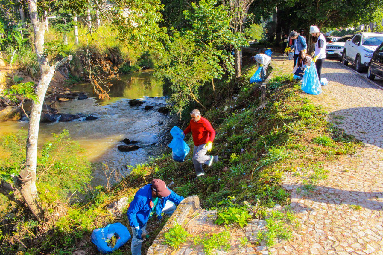
[{"label": "low broad-leaved green plant just right of the stone wall's near end", "polygon": [[239,226],[244,227],[247,225],[248,220],[251,218],[249,212],[246,208],[237,208],[237,207],[225,207],[218,209],[218,217],[215,224],[239,224]]}]

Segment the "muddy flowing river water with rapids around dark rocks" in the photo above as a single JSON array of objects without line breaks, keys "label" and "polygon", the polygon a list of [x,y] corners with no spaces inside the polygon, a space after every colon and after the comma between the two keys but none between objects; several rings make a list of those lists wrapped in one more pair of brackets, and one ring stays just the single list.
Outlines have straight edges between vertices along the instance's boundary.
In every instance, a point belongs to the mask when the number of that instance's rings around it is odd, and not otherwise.
[{"label": "muddy flowing river water with rapids around dark rocks", "polygon": [[[63,129],[69,131],[70,137],[79,142],[86,150],[86,156],[93,164],[92,185],[106,185],[108,180],[103,170],[106,163],[111,169],[119,169],[119,173],[129,173],[127,165],[147,162],[167,148],[169,131],[176,123],[176,118],[157,110],[165,106],[162,82],[152,76],[152,72],[138,72],[133,75],[121,75],[121,80],[113,80],[110,89],[110,100],[100,100],[93,94],[92,85],[82,83],[71,88],[72,92],[85,92],[89,98],[59,103],[52,107],[59,113],[96,116],[98,119],[84,121],[77,119],[70,122],[40,123],[39,147],[47,139],[52,139],[52,133],[60,133]],[[141,98],[145,103],[141,106],[130,106],[130,99]],[[144,110],[144,106],[152,105],[152,110]],[[28,130],[28,121],[7,121],[0,123],[0,136]],[[118,145],[128,138],[136,140],[140,149],[131,152],[120,152]],[[6,155],[2,153],[3,155]],[[114,174],[110,182],[115,181]]]}]

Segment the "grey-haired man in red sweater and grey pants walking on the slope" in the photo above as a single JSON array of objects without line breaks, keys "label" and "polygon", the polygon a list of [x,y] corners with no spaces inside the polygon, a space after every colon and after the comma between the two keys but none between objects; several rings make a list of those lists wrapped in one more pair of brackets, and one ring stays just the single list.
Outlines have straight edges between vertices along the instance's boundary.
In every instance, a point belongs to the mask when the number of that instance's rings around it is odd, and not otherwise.
[{"label": "grey-haired man in red sweater and grey pants walking on the slope", "polygon": [[203,176],[202,164],[211,166],[218,161],[218,156],[208,156],[211,151],[216,132],[210,122],[201,116],[199,110],[195,109],[190,113],[191,120],[189,126],[183,131],[185,136],[191,131],[193,136],[193,164],[197,177]]}]

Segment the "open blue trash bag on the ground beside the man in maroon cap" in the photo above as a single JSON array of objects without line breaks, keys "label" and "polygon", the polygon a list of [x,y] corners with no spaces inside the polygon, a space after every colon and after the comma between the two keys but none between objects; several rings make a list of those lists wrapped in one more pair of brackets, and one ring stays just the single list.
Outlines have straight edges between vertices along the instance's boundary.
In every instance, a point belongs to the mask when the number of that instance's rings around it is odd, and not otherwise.
[{"label": "open blue trash bag on the ground beside the man in maroon cap", "polygon": [[[130,239],[128,228],[117,222],[108,224],[102,229],[95,229],[90,237],[92,243],[102,253],[113,252],[123,246]],[[116,242],[116,244],[114,244]],[[113,246],[114,244],[114,246]]]}]

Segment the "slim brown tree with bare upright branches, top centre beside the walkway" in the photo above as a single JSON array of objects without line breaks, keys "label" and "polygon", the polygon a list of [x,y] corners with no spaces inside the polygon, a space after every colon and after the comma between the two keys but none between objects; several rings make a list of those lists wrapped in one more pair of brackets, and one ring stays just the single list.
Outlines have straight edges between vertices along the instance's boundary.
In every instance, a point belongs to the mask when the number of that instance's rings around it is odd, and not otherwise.
[{"label": "slim brown tree with bare upright branches, top centre beside the walkway", "polygon": [[[230,19],[230,27],[233,29],[234,34],[242,33],[246,23],[250,22],[252,15],[248,13],[250,5],[254,0],[223,0],[224,6],[229,8],[228,14]],[[246,42],[242,46],[248,46]],[[241,77],[241,47],[236,45],[234,47],[234,59],[235,59],[235,76]]]}]

